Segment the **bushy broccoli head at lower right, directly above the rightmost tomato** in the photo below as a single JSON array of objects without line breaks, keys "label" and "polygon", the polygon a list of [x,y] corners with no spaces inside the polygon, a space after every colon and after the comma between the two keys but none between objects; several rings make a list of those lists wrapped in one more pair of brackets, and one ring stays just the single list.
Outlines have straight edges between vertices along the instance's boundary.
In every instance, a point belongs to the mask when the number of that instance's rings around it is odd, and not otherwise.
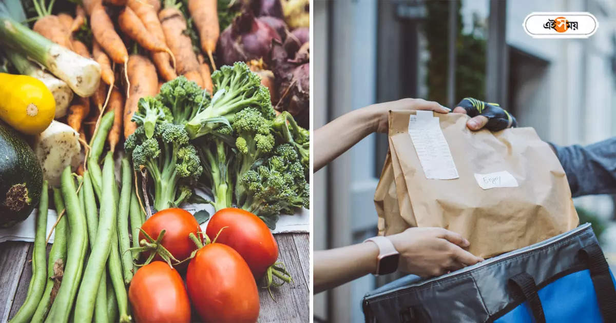
[{"label": "bushy broccoli head at lower right, directly above the rightmost tomato", "polygon": [[304,176],[295,148],[278,146],[263,165],[248,170],[240,179],[246,189],[242,209],[259,216],[270,229],[280,213],[293,214],[299,207],[310,207],[310,186]]}]

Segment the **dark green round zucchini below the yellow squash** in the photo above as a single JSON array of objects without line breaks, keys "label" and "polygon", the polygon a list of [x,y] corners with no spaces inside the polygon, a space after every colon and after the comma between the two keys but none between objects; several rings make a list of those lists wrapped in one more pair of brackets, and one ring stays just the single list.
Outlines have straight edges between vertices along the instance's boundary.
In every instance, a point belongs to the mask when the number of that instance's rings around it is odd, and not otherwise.
[{"label": "dark green round zucchini below the yellow squash", "polygon": [[23,137],[0,121],[0,228],[25,220],[39,203],[43,170]]}]

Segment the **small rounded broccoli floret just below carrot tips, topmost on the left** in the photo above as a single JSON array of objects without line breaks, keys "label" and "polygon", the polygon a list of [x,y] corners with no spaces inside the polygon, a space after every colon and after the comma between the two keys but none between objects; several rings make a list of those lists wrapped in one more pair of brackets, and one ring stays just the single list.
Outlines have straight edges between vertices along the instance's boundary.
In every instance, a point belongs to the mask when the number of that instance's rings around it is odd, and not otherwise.
[{"label": "small rounded broccoli floret just below carrot tips, topmost on the left", "polygon": [[184,125],[209,105],[210,95],[197,83],[178,76],[160,87],[156,100],[168,108],[174,124]]}]

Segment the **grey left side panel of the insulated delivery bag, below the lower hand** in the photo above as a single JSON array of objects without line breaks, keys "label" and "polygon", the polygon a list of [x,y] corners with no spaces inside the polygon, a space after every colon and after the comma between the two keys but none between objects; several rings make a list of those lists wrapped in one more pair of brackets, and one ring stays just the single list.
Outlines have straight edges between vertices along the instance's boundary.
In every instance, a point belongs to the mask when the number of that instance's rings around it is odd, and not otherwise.
[{"label": "grey left side panel of the insulated delivery bag, below the lower hand", "polygon": [[470,323],[488,317],[471,274],[417,289],[399,290],[368,302],[368,306],[376,317],[373,322],[400,322],[400,312],[409,308],[416,322]]}]

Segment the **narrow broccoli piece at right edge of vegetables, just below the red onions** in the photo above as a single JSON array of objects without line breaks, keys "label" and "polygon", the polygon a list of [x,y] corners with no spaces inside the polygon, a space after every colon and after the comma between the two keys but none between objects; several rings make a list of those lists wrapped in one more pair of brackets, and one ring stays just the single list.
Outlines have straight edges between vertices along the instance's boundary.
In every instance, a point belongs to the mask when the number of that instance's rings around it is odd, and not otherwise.
[{"label": "narrow broccoli piece at right edge of vegetables, just below the red onions", "polygon": [[274,134],[283,143],[290,143],[299,153],[299,159],[308,173],[310,164],[310,132],[298,126],[293,116],[283,111],[272,122]]}]

